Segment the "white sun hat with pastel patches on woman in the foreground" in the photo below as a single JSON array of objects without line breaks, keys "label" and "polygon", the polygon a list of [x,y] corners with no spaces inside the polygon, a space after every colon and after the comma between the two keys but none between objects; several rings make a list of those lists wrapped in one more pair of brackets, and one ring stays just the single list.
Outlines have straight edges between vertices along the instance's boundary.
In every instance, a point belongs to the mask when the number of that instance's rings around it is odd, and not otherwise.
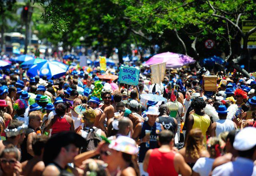
[{"label": "white sun hat with pastel patches on woman in the foreground", "polygon": [[131,155],[136,154],[138,151],[135,140],[127,136],[118,136],[116,140],[111,141],[108,148]]}]

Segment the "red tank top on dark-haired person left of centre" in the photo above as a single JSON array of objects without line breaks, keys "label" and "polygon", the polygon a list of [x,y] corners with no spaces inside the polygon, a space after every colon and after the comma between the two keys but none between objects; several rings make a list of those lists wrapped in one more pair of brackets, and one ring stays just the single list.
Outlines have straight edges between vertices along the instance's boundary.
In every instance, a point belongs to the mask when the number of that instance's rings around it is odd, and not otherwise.
[{"label": "red tank top on dark-haired person left of centre", "polygon": [[52,134],[70,130],[71,125],[68,123],[65,116],[66,115],[64,115],[63,117],[60,117],[57,115],[56,121],[54,122],[54,124],[52,124]]}]

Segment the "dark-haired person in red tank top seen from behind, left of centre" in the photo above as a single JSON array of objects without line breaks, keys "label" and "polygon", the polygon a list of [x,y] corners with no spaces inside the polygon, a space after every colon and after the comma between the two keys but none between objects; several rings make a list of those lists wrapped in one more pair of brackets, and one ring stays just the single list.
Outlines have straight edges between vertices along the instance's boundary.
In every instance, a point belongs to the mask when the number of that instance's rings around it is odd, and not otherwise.
[{"label": "dark-haired person in red tank top seen from behind, left of centre", "polygon": [[47,132],[50,128],[52,128],[52,134],[56,134],[62,131],[75,131],[74,121],[68,115],[67,106],[64,103],[60,103],[56,106],[56,115],[48,120],[46,127],[44,128],[44,132]]}]

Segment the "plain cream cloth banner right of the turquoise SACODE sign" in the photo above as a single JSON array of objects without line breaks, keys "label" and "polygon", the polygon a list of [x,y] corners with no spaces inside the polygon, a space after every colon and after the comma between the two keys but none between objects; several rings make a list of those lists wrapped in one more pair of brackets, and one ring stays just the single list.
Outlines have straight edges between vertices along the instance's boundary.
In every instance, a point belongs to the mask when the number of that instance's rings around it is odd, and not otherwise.
[{"label": "plain cream cloth banner right of the turquoise SACODE sign", "polygon": [[151,82],[160,84],[164,80],[166,62],[160,64],[150,65],[151,69]]}]

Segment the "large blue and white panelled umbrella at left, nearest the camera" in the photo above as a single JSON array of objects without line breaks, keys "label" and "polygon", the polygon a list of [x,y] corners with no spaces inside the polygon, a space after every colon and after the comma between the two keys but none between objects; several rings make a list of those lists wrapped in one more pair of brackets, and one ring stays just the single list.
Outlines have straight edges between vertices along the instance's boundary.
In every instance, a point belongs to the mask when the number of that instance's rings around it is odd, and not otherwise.
[{"label": "large blue and white panelled umbrella at left, nearest the camera", "polygon": [[44,75],[47,76],[47,79],[50,78],[60,78],[61,76],[66,74],[66,71],[68,69],[68,65],[63,64],[61,62],[57,61],[45,61],[38,64],[33,65],[28,69],[27,75],[30,77],[34,77],[38,75],[42,77]]}]

